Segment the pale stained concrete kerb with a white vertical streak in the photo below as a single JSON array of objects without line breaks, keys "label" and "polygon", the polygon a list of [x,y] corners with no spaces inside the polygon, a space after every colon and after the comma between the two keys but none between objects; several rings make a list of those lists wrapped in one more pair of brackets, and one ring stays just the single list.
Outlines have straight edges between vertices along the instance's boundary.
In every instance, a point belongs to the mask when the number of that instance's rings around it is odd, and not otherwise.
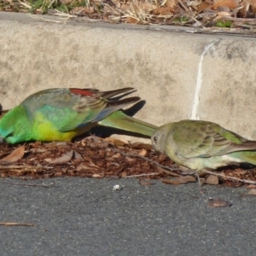
[{"label": "pale stained concrete kerb with a white vertical streak", "polygon": [[133,86],[146,101],[137,118],[207,119],[255,139],[255,39],[147,28],[0,13],[0,102],[12,108],[53,87]]}]

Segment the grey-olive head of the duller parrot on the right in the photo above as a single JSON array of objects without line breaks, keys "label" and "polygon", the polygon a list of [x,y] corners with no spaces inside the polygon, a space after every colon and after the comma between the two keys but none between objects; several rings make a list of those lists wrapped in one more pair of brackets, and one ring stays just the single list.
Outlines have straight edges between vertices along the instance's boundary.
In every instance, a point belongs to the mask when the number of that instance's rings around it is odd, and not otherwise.
[{"label": "grey-olive head of the duller parrot on the right", "polygon": [[156,131],[154,131],[154,134],[151,136],[151,142],[154,150],[165,153],[168,131],[168,125],[162,125]]}]

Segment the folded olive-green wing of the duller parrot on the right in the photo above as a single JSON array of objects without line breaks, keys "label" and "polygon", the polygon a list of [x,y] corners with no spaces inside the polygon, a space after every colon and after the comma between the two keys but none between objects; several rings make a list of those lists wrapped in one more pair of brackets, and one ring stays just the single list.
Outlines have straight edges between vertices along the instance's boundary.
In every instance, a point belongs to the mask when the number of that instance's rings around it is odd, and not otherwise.
[{"label": "folded olive-green wing of the duller parrot on the right", "polygon": [[256,142],[248,141],[235,132],[207,121],[177,122],[172,130],[172,139],[177,154],[186,158],[210,157],[256,149]]}]

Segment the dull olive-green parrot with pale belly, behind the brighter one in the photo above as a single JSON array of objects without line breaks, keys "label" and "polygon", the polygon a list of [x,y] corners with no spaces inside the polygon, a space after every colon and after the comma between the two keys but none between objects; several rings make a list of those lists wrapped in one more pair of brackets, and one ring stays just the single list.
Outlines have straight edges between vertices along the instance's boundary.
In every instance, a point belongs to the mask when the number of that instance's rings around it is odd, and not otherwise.
[{"label": "dull olive-green parrot with pale belly, behind the brighter one", "polygon": [[162,125],[151,140],[155,150],[196,171],[235,163],[256,165],[256,141],[212,122],[182,120]]}]

